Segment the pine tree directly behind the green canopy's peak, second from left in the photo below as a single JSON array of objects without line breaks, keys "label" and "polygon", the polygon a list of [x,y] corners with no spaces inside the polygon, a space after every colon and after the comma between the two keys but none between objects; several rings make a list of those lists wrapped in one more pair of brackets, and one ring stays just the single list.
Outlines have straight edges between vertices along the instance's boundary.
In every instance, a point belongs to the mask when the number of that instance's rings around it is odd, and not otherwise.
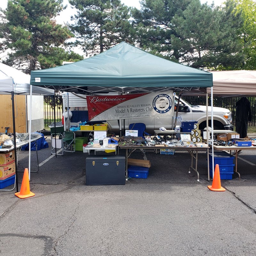
[{"label": "pine tree directly behind the green canopy's peak, second from left", "polygon": [[126,41],[132,43],[130,9],[120,0],[69,0],[77,9],[69,28],[86,55],[98,54]]}]

